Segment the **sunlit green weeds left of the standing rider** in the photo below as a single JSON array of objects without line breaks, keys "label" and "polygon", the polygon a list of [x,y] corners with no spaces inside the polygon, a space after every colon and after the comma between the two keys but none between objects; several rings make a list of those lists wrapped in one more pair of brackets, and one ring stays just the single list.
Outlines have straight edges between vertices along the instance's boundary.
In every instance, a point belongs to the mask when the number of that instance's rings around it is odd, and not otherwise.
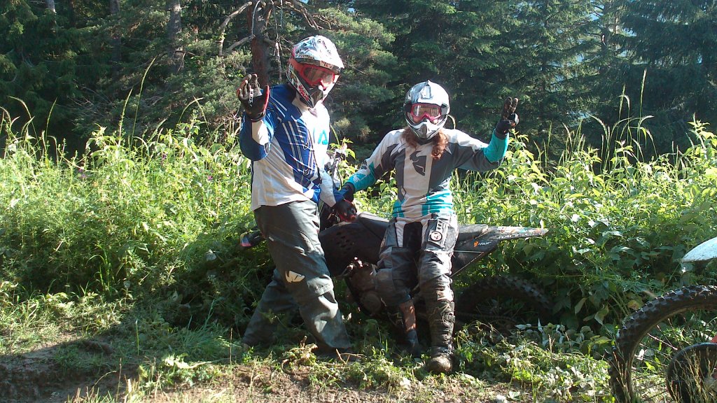
[{"label": "sunlit green weeds left of the standing rider", "polygon": [[66,158],[47,152],[47,138],[12,132],[6,115],[2,125],[2,278],[50,293],[163,290],[205,313],[231,301],[219,312],[232,321],[246,314],[267,257],[239,253],[252,226],[250,173],[232,133],[214,142],[196,119],[146,141],[99,128]]}]

